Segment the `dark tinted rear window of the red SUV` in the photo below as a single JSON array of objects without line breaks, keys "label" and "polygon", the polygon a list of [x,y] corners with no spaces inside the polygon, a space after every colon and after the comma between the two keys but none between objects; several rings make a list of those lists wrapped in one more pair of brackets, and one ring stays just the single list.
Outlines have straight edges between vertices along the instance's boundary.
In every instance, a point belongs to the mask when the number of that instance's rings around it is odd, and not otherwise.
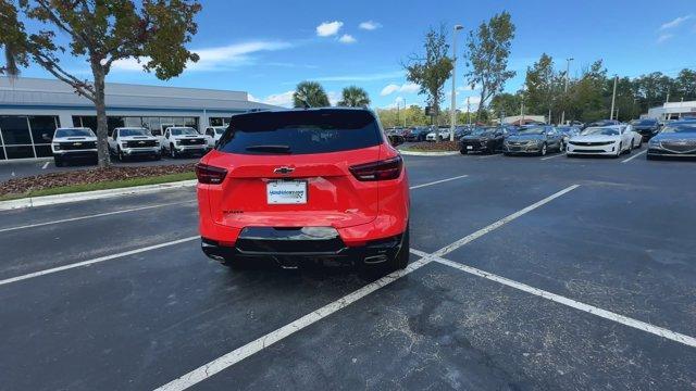
[{"label": "dark tinted rear window of the red SUV", "polygon": [[217,150],[244,154],[307,154],[380,143],[380,128],[370,112],[310,110],[233,116]]}]

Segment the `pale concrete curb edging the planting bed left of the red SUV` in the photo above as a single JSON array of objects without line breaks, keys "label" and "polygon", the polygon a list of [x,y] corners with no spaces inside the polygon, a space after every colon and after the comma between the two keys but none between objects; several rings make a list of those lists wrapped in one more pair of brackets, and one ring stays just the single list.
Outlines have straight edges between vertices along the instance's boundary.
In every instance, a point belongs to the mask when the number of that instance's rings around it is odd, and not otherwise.
[{"label": "pale concrete curb edging the planting bed left of the red SUV", "polygon": [[192,187],[196,186],[198,180],[181,180],[169,184],[159,184],[159,185],[145,185],[145,186],[134,186],[128,188],[121,189],[108,189],[108,190],[95,190],[95,191],[84,191],[76,193],[67,193],[67,194],[55,194],[55,195],[44,195],[44,197],[29,197],[25,199],[11,200],[11,201],[0,201],[0,211],[11,211],[15,209],[23,207],[35,207],[35,206],[45,206],[45,205],[57,205],[69,202],[77,202],[77,201],[87,201],[87,200],[99,200],[119,195],[128,195],[128,194],[144,194],[170,189],[178,189],[184,187]]}]

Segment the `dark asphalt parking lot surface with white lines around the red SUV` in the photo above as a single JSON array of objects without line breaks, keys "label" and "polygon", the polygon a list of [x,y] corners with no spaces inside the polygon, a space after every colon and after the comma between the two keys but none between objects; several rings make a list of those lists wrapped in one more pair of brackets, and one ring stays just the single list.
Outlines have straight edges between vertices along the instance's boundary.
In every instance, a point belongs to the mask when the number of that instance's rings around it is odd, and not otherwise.
[{"label": "dark asphalt parking lot surface with white lines around the red SUV", "polygon": [[2,212],[0,389],[696,389],[696,162],[638,153],[407,156],[384,277],[228,270],[194,189]]}]

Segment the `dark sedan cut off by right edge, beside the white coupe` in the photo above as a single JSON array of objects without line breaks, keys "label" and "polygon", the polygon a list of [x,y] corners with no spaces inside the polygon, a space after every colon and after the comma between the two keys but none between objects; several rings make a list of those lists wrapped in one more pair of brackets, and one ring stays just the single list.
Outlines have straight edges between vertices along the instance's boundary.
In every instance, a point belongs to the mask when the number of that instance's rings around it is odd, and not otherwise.
[{"label": "dark sedan cut off by right edge, beside the white coupe", "polygon": [[696,121],[679,121],[664,126],[648,141],[647,159],[696,157]]}]

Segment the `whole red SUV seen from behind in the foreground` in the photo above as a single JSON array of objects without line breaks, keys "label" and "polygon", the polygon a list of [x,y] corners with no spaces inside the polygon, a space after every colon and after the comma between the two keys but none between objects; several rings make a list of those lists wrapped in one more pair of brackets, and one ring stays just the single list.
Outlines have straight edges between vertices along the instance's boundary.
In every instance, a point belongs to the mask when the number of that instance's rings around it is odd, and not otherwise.
[{"label": "whole red SUV seen from behind in the foreground", "polygon": [[235,115],[196,174],[202,250],[224,265],[408,264],[408,176],[371,111]]}]

